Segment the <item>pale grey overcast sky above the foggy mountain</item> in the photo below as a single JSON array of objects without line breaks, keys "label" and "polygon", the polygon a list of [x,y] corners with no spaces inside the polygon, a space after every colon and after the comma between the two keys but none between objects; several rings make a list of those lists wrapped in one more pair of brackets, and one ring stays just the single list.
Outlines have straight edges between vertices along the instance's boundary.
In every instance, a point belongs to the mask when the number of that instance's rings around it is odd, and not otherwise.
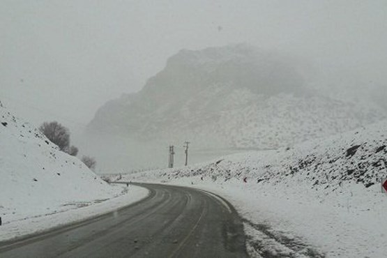
[{"label": "pale grey overcast sky above the foggy mountain", "polygon": [[384,83],[387,1],[0,1],[0,100],[82,128],[182,48],[230,43],[347,66]]}]

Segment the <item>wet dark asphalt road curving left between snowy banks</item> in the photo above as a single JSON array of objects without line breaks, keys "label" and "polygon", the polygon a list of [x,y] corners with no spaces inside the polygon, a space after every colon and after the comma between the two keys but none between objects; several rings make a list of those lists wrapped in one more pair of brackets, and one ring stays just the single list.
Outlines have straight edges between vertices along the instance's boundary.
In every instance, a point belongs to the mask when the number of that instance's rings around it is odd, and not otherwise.
[{"label": "wet dark asphalt road curving left between snowy banks", "polygon": [[248,257],[242,222],[225,199],[193,188],[138,185],[150,190],[149,197],[97,218],[0,243],[0,257]]}]

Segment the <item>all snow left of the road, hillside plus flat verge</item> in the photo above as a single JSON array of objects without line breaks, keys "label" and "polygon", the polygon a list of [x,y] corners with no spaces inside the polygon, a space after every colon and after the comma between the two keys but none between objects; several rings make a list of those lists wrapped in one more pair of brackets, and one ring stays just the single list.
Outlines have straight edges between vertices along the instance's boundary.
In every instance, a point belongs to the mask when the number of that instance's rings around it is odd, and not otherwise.
[{"label": "all snow left of the road, hillside plus flat verge", "polygon": [[142,188],[107,184],[1,103],[0,179],[0,241],[107,213],[148,195]]}]

